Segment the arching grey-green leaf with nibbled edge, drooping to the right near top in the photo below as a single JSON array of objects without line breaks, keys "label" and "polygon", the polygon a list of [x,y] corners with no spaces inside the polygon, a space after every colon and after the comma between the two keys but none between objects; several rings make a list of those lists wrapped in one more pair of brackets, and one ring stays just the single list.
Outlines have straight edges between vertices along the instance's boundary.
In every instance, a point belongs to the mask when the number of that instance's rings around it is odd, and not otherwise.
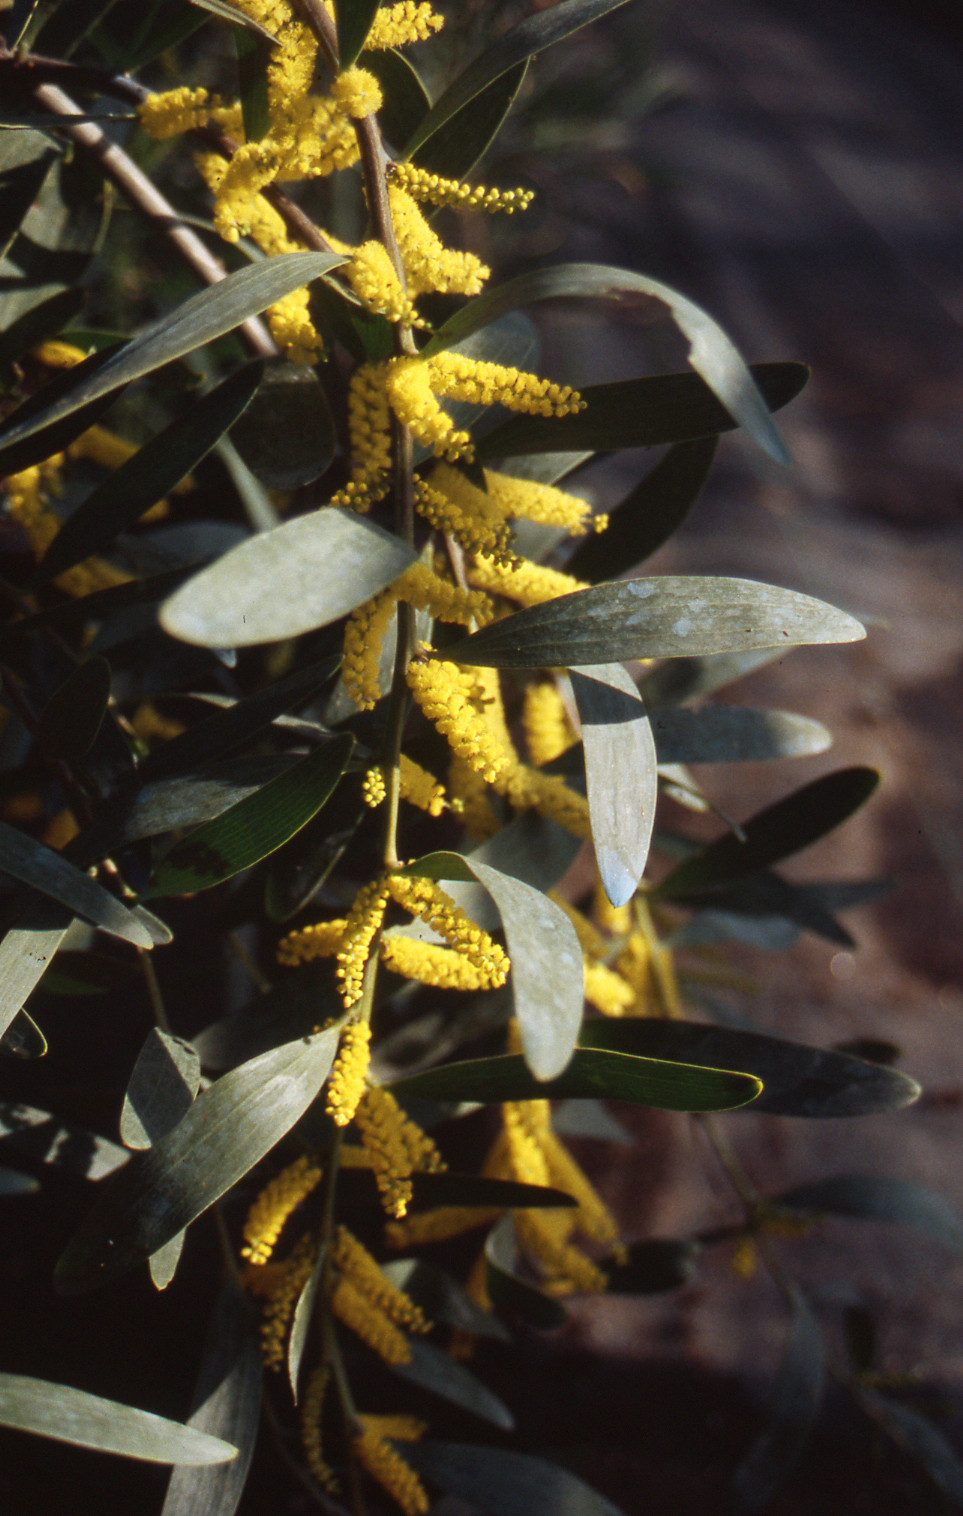
[{"label": "arching grey-green leaf with nibbled edge, drooping to the right near top", "polygon": [[449,317],[431,340],[429,350],[437,352],[449,343],[456,343],[520,305],[573,296],[601,300],[632,297],[635,305],[643,303],[643,309],[652,305],[657,309],[666,308],[689,341],[689,362],[729,415],[746,429],[763,452],[776,462],[789,464],[789,453],[773,426],[769,406],[731,338],[711,315],[678,290],[670,290],[658,279],[637,274],[631,268],[611,268],[605,264],[552,264],[519,274],[508,283],[485,291]]}]

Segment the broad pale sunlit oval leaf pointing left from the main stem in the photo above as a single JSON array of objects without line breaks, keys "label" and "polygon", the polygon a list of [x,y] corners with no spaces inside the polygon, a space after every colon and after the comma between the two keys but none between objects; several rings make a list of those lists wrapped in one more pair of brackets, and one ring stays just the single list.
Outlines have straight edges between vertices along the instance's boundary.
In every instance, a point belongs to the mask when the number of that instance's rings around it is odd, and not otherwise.
[{"label": "broad pale sunlit oval leaf pointing left from the main stem", "polygon": [[300,637],[347,615],[416,558],[400,537],[355,511],[326,506],[261,532],[202,568],[164,603],[161,626],[202,647]]}]

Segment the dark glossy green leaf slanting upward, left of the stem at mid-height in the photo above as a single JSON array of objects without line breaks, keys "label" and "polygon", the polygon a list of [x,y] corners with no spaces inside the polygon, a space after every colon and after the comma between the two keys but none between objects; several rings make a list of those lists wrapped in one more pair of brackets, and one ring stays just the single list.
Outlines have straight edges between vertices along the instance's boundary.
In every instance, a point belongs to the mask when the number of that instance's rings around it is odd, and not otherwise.
[{"label": "dark glossy green leaf slanting upward, left of the stem at mid-height", "polygon": [[350,758],[343,732],[285,773],[174,843],[150,876],[143,899],[209,890],[250,869],[300,831],[334,793]]}]

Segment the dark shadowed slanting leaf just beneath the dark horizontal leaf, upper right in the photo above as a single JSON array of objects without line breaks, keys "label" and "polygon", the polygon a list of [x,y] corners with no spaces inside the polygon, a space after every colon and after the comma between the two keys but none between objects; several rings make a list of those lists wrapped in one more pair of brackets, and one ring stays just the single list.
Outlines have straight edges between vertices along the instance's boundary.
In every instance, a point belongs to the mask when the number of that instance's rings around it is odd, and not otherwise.
[{"label": "dark shadowed slanting leaf just beneath the dark horizontal leaf, upper right", "polygon": [[666,543],[696,503],[713,465],[714,437],[675,443],[655,468],[631,490],[614,511],[608,529],[578,544],[566,568],[576,579],[599,584],[640,564]]}]

